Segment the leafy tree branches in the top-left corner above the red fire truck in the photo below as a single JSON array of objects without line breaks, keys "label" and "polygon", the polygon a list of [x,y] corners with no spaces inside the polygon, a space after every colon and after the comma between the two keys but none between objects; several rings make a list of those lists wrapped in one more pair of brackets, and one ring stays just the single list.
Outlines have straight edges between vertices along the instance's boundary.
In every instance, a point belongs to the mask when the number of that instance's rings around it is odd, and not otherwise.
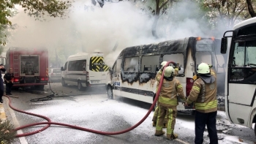
[{"label": "leafy tree branches in the top-left corner above the red fire truck", "polygon": [[[24,8],[28,15],[34,18],[43,18],[47,12],[50,17],[64,17],[65,11],[71,6],[71,1],[59,0],[0,0],[0,26],[11,26],[9,18],[15,10],[15,4]],[[0,31],[1,32],[1,31]],[[2,34],[2,33],[1,33]],[[0,39],[0,45],[5,45],[5,41]]]}]

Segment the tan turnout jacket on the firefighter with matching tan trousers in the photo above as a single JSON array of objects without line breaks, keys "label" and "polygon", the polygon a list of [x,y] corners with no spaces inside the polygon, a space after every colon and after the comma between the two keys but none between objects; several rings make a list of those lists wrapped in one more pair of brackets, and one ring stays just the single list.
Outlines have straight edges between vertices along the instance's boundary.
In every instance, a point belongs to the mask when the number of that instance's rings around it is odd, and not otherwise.
[{"label": "tan turnout jacket on the firefighter with matching tan trousers", "polygon": [[[162,77],[162,71],[157,72],[156,80],[157,84]],[[157,86],[158,87],[158,86]],[[162,88],[159,93],[158,104],[164,107],[176,107],[178,105],[178,96],[181,98],[183,102],[186,101],[183,88],[179,80],[173,77],[173,80],[163,80]]]}]

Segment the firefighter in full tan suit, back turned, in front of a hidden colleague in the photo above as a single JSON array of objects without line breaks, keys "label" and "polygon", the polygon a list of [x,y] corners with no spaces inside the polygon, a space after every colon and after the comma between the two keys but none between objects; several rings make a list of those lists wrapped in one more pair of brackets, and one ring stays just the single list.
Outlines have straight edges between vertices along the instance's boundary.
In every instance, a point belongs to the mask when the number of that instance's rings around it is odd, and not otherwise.
[{"label": "firefighter in full tan suit, back turned, in front of a hidden colleague", "polygon": [[[164,70],[164,80],[158,99],[157,126],[154,134],[155,136],[165,134],[165,132],[162,131],[162,127],[165,115],[167,115],[167,140],[173,140],[178,137],[178,135],[173,132],[177,115],[177,94],[181,98],[181,101],[186,101],[181,83],[174,77],[174,71],[171,66],[166,67]],[[161,77],[161,73],[158,72],[156,76],[158,82],[161,80]]]}]

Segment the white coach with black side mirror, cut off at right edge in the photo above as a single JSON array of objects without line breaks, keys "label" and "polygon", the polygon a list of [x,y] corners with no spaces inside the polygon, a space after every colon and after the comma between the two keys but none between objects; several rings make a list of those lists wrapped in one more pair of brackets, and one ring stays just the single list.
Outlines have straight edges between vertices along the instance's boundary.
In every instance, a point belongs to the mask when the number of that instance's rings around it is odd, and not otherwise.
[{"label": "white coach with black side mirror, cut off at right edge", "polygon": [[[226,36],[230,33],[231,36]],[[228,54],[225,80],[227,118],[234,124],[252,128],[256,123],[256,18],[244,20],[236,24],[233,31],[226,31],[221,53]]]}]

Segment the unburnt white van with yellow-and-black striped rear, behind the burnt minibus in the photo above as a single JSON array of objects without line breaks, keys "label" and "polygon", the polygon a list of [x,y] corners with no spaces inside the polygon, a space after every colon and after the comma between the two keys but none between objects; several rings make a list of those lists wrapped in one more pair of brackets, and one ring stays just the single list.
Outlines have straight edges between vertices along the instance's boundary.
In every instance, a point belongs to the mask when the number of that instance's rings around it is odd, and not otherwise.
[{"label": "unburnt white van with yellow-and-black striped rear, behind the burnt minibus", "polygon": [[105,86],[109,67],[103,53],[77,53],[69,56],[61,67],[62,86],[75,85],[79,90],[90,86]]}]

